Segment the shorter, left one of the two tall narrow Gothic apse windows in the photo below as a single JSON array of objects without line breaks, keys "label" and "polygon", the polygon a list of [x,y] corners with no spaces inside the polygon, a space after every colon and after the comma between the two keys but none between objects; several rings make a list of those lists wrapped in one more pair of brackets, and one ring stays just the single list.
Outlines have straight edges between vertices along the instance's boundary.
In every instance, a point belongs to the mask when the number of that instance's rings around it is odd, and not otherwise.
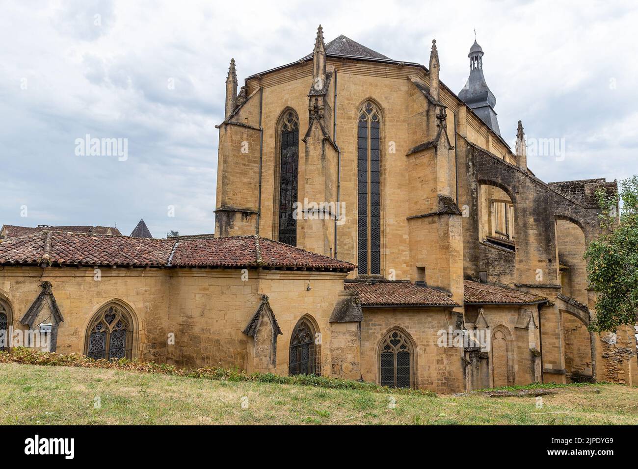
[{"label": "shorter, left one of the two tall narrow Gothic apse windows", "polygon": [[299,175],[299,120],[286,112],[281,125],[279,151],[279,241],[297,246],[297,220],[293,204],[297,202]]}]

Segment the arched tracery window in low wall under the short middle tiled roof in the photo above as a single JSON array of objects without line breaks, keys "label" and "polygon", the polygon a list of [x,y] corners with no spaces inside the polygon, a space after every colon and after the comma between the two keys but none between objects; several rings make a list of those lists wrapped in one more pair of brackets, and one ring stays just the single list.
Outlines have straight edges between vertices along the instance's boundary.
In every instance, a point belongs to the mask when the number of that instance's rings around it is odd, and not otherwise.
[{"label": "arched tracery window in low wall under the short middle tiled roof", "polygon": [[401,331],[390,331],[379,346],[379,383],[389,387],[412,387],[412,345]]}]

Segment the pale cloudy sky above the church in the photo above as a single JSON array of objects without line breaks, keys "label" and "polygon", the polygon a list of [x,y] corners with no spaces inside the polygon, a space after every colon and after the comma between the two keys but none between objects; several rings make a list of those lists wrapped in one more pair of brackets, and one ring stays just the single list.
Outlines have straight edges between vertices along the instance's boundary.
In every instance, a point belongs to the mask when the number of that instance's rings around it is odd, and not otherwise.
[{"label": "pale cloudy sky above the church", "polygon": [[[327,41],[426,65],[436,38],[456,92],[476,28],[503,138],[521,119],[528,139],[564,139],[564,159],[529,167],[548,182],[623,179],[638,173],[634,3],[5,0],[0,224],[212,232],[230,57],[243,82],[308,54],[320,23]],[[126,138],[128,158],[76,154],[85,135]]]}]

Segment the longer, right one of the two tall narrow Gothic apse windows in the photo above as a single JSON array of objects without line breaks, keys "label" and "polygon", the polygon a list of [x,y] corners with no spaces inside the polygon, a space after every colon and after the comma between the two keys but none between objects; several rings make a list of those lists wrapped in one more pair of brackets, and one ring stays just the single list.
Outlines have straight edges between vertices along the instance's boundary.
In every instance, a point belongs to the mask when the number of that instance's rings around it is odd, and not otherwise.
[{"label": "longer, right one of the two tall narrow Gothic apse windows", "polygon": [[381,273],[381,114],[367,101],[359,112],[357,218],[359,274]]}]

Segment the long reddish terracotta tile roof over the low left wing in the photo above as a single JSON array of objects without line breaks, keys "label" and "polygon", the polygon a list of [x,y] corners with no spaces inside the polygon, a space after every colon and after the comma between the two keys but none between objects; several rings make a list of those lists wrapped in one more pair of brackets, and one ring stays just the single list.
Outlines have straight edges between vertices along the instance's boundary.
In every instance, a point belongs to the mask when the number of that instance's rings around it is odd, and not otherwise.
[{"label": "long reddish terracotta tile roof over the low left wing", "polygon": [[59,231],[0,243],[0,264],[274,267],[352,271],[354,264],[256,236],[174,241]]}]

